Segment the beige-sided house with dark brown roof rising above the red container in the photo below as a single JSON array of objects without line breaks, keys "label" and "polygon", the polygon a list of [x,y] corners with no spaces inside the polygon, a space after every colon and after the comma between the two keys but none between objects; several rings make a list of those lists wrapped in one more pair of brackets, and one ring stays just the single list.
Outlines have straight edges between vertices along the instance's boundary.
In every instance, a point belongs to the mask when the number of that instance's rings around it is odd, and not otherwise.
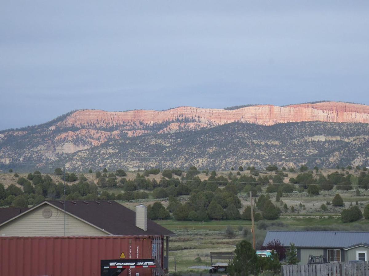
[{"label": "beige-sided house with dark brown roof rising above the red container", "polygon": [[[64,213],[65,210],[65,213]],[[65,214],[65,215],[64,215]],[[172,236],[152,220],[115,201],[44,201],[32,208],[0,208],[2,236]]]}]

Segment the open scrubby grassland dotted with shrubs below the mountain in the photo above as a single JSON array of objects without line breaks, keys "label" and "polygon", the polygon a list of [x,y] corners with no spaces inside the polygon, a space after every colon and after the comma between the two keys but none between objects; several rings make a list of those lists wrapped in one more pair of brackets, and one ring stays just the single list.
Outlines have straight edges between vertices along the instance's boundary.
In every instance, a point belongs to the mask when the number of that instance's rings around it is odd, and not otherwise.
[{"label": "open scrubby grassland dotted with shrubs below the mountain", "polygon": [[[206,219],[201,220],[196,216],[191,218],[188,213],[184,218],[179,219],[175,210],[170,206],[173,204],[173,202],[170,202],[170,198],[173,200],[173,196],[169,197],[169,194],[158,195],[156,190],[161,188],[168,192],[177,191],[177,194],[174,196],[176,204],[178,206],[190,207],[196,204],[194,197],[201,193],[204,194],[204,192],[206,194],[207,189],[210,189],[207,195],[210,194],[213,197],[214,193],[215,198],[217,195],[235,194],[236,198],[232,200],[237,205],[239,215],[242,215],[245,208],[250,205],[249,191],[253,192],[253,200],[255,202],[258,202],[262,197],[266,197],[266,200],[269,200],[275,206],[275,209],[279,211],[277,217],[273,219],[261,217],[255,223],[256,245],[258,248],[261,247],[268,230],[368,231],[369,229],[369,220],[367,219],[359,219],[355,222],[346,223],[342,222],[341,219],[342,210],[357,206],[363,212],[365,206],[369,204],[368,187],[363,186],[364,182],[362,180],[367,175],[365,172],[359,170],[338,171],[338,169],[324,169],[319,171],[309,170],[303,173],[296,171],[258,171],[255,173],[248,170],[199,171],[192,178],[187,177],[186,171],[180,172],[180,176],[178,177],[174,173],[173,176],[172,173],[170,173],[170,176],[165,174],[166,177],[163,176],[163,172],[157,174],[146,173],[146,176],[142,173],[125,172],[124,176],[114,175],[112,172],[108,172],[105,175],[97,174],[96,172],[83,173],[83,176],[80,173],[76,173],[76,178],[79,179],[66,182],[71,190],[70,194],[67,195],[67,199],[116,200],[132,210],[140,203],[146,206],[153,206],[155,202],[159,202],[163,208],[170,212],[165,211],[168,215],[165,218],[156,218],[155,221],[176,233],[176,236],[170,237],[169,243],[170,272],[201,272],[201,269],[190,267],[210,265],[210,252],[230,252],[235,249],[235,245],[242,239],[251,241],[251,221],[248,219],[230,219],[228,215],[227,217],[224,215],[220,219],[206,216]],[[301,175],[308,175],[308,178],[301,178]],[[324,182],[322,184],[322,182],[319,182],[322,179],[321,176],[331,182],[327,182],[326,184]],[[345,183],[348,186],[345,186],[346,188],[344,189],[339,188],[338,183],[334,183],[334,181],[337,181],[336,176],[344,180],[348,179],[348,176],[352,176],[352,183]],[[41,180],[44,183],[48,179],[50,183],[55,183],[55,187],[62,185],[61,175],[51,173],[42,174],[42,177],[43,180]],[[0,183],[4,185],[5,189],[11,185],[23,189],[25,186],[24,183],[19,184],[20,178],[30,179],[30,176],[22,173],[16,176],[15,172],[1,173]],[[105,178],[104,181],[101,181],[101,178]],[[109,182],[109,179],[112,178],[114,178],[113,181]],[[357,181],[358,179],[359,182]],[[31,182],[33,180],[29,181]],[[146,182],[142,184],[142,181],[151,183],[151,188],[144,188],[148,186]],[[172,184],[172,181],[175,184]],[[355,181],[357,182],[355,183]],[[87,186],[90,185],[90,191],[85,191],[85,194],[82,194],[79,190],[79,185],[83,183],[88,183],[86,184]],[[110,184],[107,185],[106,183]],[[214,185],[210,187],[208,185],[209,183],[216,183],[215,187]],[[200,184],[203,185],[203,188],[200,187]],[[34,194],[28,194],[29,205],[32,205],[32,202],[35,203],[35,196],[38,191],[37,185],[42,185],[42,183],[32,183]],[[182,190],[185,186],[189,187],[182,194],[179,192],[181,185],[184,185],[181,188]],[[318,190],[311,192],[309,187],[312,185],[317,186]],[[328,185],[332,187],[325,188]],[[234,187],[232,188],[231,186]],[[91,187],[96,187],[95,194],[92,194]],[[128,187],[134,188],[131,189]],[[236,189],[235,187],[237,190],[232,190]],[[272,190],[273,187],[276,187],[276,190]],[[283,190],[282,192],[283,187],[287,187],[289,190]],[[143,192],[145,194],[144,198],[127,198],[127,195],[134,195],[133,191]],[[341,206],[334,206],[332,204],[332,200],[336,194],[339,194],[342,198],[343,204]],[[60,198],[63,197],[62,195],[59,196]],[[38,197],[41,197],[41,199],[55,199],[57,195],[46,191],[44,194],[38,195]],[[228,199],[225,198],[225,200]],[[6,200],[4,199],[2,202],[3,206],[6,206]],[[223,208],[227,211],[227,208]],[[258,204],[256,204],[255,210],[256,212],[263,213],[264,216],[264,212]]]}]

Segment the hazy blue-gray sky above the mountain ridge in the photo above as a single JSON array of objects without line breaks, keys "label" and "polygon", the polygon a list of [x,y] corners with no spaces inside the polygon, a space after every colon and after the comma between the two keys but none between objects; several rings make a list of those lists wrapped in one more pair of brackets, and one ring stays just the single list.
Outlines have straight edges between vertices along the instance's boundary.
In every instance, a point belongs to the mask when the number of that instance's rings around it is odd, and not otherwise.
[{"label": "hazy blue-gray sky above the mountain ridge", "polygon": [[0,130],[76,109],[369,105],[368,14],[355,0],[3,0]]}]

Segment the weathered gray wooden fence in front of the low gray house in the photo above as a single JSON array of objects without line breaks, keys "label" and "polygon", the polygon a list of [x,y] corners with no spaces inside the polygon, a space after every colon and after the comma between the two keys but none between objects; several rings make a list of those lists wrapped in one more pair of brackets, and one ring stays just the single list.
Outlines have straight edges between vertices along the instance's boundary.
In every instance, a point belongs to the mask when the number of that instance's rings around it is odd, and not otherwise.
[{"label": "weathered gray wooden fence in front of the low gray house", "polygon": [[369,276],[368,263],[283,265],[281,270],[283,276]]}]

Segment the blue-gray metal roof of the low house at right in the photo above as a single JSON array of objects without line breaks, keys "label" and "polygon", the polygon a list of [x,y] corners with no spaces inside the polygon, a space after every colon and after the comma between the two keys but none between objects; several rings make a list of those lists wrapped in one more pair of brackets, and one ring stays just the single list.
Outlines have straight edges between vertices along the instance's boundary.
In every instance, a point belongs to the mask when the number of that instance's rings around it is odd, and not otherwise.
[{"label": "blue-gray metal roof of the low house at right", "polygon": [[369,232],[268,231],[263,245],[273,240],[279,240],[286,247],[294,243],[296,247],[346,248],[369,243]]}]

